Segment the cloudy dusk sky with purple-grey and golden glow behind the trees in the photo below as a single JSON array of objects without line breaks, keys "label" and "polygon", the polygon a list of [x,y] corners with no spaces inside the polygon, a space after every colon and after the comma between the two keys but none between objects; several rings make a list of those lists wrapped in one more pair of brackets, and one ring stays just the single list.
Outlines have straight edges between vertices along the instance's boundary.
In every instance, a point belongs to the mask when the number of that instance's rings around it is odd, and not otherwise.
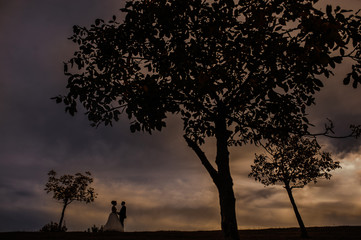
[{"label": "cloudy dusk sky with purple-grey and golden glow behind the trees", "polygon": [[[326,1],[321,1],[324,6]],[[330,2],[330,1],[329,1]],[[338,2],[338,1],[333,1]],[[122,0],[0,0],[0,231],[39,230],[58,221],[61,204],[45,193],[47,172],[90,171],[99,194],[92,204],[71,204],[70,230],[104,225],[110,201],[125,200],[126,231],[220,229],[218,197],[209,176],[171,117],[165,131],[131,134],[126,119],[91,128],[50,100],[64,93],[63,61],[75,46],[73,25],[119,15]],[[342,6],[361,8],[360,0]],[[322,127],[328,117],[339,134],[361,123],[361,88],[343,86],[341,66],[310,110]],[[345,127],[346,126],[346,127]],[[307,226],[361,224],[361,141],[321,139],[342,169],[294,196]],[[286,191],[248,179],[257,148],[231,149],[239,227],[297,226]],[[214,156],[209,144],[207,154]]]}]

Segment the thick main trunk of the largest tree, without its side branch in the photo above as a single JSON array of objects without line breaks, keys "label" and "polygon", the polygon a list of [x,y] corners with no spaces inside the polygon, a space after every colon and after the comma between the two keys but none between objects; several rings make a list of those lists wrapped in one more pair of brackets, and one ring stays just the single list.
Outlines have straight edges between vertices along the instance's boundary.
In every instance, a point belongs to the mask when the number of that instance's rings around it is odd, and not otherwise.
[{"label": "thick main trunk of the largest tree, without its side branch", "polygon": [[218,193],[221,208],[221,225],[226,240],[239,240],[239,232],[236,218],[236,198],[233,192],[233,181],[229,169],[229,152],[226,120],[220,113],[216,121],[217,156],[216,164],[218,176],[213,179]]}]

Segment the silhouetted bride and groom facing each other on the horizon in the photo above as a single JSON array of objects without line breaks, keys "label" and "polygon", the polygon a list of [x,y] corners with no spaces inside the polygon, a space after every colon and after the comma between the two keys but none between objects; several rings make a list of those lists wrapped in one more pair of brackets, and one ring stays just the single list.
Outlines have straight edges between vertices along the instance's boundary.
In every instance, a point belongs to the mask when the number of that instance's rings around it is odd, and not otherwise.
[{"label": "silhouetted bride and groom facing each other on the horizon", "polygon": [[[117,201],[111,201],[112,212],[109,214],[108,221],[104,225],[104,231],[124,232],[124,219],[127,218],[127,207],[122,202],[120,211],[117,212]],[[118,217],[119,215],[119,217]]]}]

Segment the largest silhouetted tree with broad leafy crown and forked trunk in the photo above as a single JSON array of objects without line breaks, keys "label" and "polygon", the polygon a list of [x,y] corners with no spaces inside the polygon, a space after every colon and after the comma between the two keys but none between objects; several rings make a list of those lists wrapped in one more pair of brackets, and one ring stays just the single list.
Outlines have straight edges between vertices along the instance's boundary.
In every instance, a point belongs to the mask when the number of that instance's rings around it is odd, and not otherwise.
[{"label": "largest silhouetted tree with broad leafy crown and forked trunk", "polygon": [[[161,130],[169,114],[215,183],[226,239],[239,239],[229,146],[308,132],[320,79],[345,58],[360,81],[360,18],[317,0],[130,0],[124,19],[74,26],[64,64],[68,93],[55,97],[93,126],[124,113],[130,130]],[[201,149],[216,138],[212,164]]]}]

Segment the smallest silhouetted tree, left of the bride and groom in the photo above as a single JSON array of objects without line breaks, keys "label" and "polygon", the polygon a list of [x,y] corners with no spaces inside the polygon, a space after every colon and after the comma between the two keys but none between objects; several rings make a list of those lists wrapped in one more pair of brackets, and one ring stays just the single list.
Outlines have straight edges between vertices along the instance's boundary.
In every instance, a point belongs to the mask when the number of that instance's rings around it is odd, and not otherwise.
[{"label": "smallest silhouetted tree, left of the bride and groom", "polygon": [[73,201],[94,202],[97,194],[94,192],[94,188],[89,186],[93,182],[90,172],[85,172],[85,175],[76,173],[74,176],[63,175],[56,178],[56,172],[51,170],[48,176],[49,179],[44,190],[46,193],[52,192],[53,198],[63,203],[59,221],[59,230],[61,230],[66,207]]}]

